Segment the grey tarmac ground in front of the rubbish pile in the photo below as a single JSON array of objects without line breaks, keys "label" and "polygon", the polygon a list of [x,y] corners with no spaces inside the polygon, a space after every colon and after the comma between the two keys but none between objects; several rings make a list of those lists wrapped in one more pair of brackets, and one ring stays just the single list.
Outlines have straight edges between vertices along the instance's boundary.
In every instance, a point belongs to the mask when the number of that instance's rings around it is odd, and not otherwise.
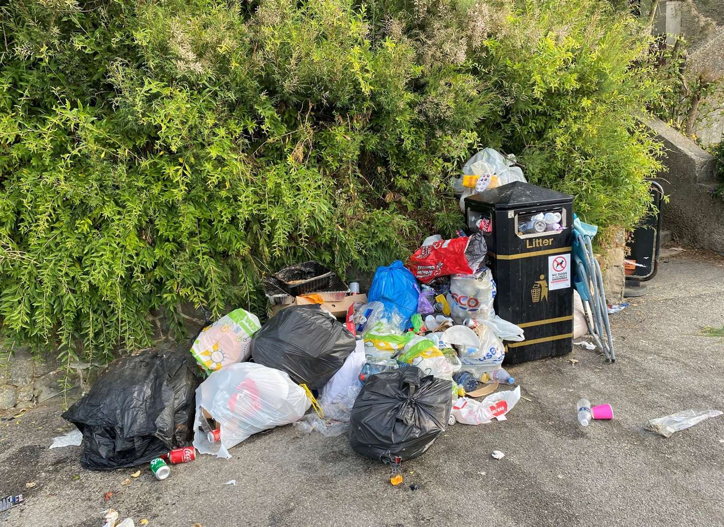
[{"label": "grey tarmac ground in front of the rubbish pile", "polygon": [[[137,526],[722,526],[724,416],[668,439],[644,424],[686,408],[724,410],[724,338],[699,334],[724,325],[724,258],[665,254],[649,294],[612,316],[615,364],[577,347],[512,367],[526,399],[508,421],[450,427],[404,463],[400,487],[346,437],[291,426],[251,437],[230,460],[204,455],[166,481],[144,467],[123,486],[132,470],[86,471],[80,447],[49,450],[71,429],[56,404],[0,421],[0,494],[25,496],[0,524],[100,527],[113,507]],[[580,427],[581,396],[611,403],[615,419]],[[230,479],[237,484],[224,485]]]}]

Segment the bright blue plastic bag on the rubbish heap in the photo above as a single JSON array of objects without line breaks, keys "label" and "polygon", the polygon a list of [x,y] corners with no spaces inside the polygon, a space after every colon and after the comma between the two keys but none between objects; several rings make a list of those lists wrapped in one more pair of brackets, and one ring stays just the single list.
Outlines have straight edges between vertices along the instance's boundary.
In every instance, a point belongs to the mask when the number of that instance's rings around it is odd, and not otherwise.
[{"label": "bright blue plastic bag on the rubbish heap", "polygon": [[419,296],[417,280],[403,262],[395,260],[390,267],[377,267],[367,301],[382,302],[386,317],[396,310],[403,318],[400,330],[404,331],[410,326],[410,317],[417,312]]}]

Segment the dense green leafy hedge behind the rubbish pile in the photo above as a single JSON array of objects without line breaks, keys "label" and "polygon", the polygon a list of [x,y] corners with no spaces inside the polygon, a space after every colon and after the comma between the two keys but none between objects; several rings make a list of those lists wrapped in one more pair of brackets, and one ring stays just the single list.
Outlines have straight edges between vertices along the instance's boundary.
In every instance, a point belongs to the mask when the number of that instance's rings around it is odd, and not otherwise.
[{"label": "dense green leafy hedge behind the rubbish pile", "polygon": [[0,8],[0,320],[67,359],[182,301],[264,310],[262,273],[372,269],[515,153],[631,226],[659,147],[639,22],[597,0],[14,0]]}]

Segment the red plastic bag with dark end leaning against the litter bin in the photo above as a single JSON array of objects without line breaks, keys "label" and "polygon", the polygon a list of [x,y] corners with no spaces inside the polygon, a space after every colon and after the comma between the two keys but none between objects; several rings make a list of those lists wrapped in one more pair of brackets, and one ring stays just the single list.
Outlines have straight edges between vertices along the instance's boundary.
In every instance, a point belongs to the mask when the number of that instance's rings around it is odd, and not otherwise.
[{"label": "red plastic bag with dark end leaning against the litter bin", "polygon": [[406,265],[421,283],[429,283],[439,276],[475,273],[487,251],[483,235],[476,233],[423,245]]}]

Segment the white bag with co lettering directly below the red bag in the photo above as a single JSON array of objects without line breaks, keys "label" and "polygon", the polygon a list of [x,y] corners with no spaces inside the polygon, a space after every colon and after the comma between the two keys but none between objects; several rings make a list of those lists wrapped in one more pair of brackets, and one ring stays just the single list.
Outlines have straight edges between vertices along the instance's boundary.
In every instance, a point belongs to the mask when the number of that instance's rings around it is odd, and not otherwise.
[{"label": "white bag with co lettering directly below the red bag", "polygon": [[488,267],[482,267],[477,273],[453,275],[450,278],[450,316],[456,324],[462,324],[466,318],[488,320],[495,316],[493,301],[497,294],[495,280]]}]

